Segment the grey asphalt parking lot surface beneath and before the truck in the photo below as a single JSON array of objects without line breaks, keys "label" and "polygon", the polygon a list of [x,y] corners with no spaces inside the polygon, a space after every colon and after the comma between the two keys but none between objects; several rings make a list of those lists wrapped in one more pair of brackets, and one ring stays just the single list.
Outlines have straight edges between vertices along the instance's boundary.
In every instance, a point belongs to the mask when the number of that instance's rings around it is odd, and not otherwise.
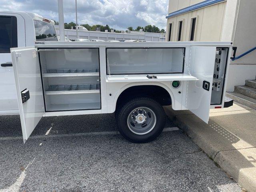
[{"label": "grey asphalt parking lot surface beneath and before the truck", "polygon": [[23,144],[19,116],[0,116],[0,192],[240,192],[167,119],[153,142],[133,144],[113,114],[42,118]]}]

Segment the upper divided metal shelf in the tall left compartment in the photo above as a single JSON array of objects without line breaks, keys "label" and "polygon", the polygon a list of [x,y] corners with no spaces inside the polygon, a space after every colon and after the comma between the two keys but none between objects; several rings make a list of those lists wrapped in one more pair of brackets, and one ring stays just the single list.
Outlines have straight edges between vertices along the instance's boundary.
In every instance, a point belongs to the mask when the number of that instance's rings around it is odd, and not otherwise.
[{"label": "upper divided metal shelf in the tall left compartment", "polygon": [[43,77],[99,76],[99,69],[50,69]]}]

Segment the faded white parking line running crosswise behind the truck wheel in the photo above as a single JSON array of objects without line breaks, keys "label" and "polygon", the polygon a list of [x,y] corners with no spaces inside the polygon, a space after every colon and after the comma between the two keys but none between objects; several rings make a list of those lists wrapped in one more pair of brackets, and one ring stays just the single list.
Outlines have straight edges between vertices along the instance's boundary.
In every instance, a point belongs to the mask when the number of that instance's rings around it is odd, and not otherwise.
[{"label": "faded white parking line running crosswise behind the truck wheel", "polygon": [[[164,128],[163,132],[180,130],[178,127]],[[72,137],[72,136],[92,136],[92,135],[117,135],[118,131],[104,131],[104,132],[86,132],[86,133],[71,133],[71,134],[52,134],[52,135],[36,135],[30,136],[30,139],[38,138],[56,138],[56,137]],[[22,137],[2,137],[0,140],[20,140]]]}]

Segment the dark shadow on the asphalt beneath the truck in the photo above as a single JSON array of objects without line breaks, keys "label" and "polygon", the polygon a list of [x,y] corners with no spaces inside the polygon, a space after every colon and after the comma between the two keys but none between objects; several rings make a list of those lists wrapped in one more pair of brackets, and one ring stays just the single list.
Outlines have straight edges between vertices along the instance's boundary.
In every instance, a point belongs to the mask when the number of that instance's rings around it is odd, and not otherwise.
[{"label": "dark shadow on the asphalt beneath the truck", "polygon": [[[166,127],[174,127],[166,117]],[[42,117],[31,136],[117,131],[114,114]],[[22,136],[20,116],[0,116],[0,137]]]}]

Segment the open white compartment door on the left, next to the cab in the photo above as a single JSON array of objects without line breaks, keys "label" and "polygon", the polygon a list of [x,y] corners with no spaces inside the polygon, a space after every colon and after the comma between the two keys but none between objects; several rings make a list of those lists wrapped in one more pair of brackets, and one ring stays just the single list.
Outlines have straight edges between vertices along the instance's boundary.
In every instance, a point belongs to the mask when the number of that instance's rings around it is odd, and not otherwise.
[{"label": "open white compartment door on the left, next to the cab", "polygon": [[39,58],[34,47],[12,48],[11,55],[25,143],[44,115]]}]

